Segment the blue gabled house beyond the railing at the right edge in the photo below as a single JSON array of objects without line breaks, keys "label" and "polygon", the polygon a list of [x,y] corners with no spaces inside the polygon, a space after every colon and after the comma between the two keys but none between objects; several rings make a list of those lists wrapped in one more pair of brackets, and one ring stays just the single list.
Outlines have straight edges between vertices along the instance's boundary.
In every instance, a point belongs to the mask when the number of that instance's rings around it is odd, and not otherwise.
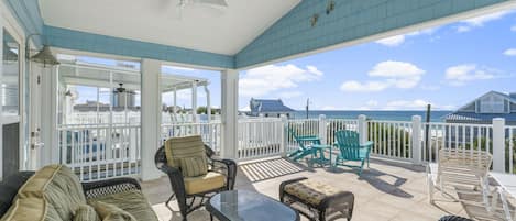
[{"label": "blue gabled house beyond the railing at the right edge", "polygon": [[448,114],[444,120],[447,123],[491,124],[494,118],[504,118],[505,124],[516,125],[516,93],[490,91]]}]

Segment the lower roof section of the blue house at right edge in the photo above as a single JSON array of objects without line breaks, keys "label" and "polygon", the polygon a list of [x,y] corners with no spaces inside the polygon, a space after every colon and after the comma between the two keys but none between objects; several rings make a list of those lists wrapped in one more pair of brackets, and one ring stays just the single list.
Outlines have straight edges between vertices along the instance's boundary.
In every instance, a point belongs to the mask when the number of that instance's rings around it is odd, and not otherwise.
[{"label": "lower roof section of the blue house at right edge", "polygon": [[516,124],[516,113],[472,113],[458,111],[446,115],[444,120],[457,123],[492,123],[495,118],[504,118],[506,124]]}]

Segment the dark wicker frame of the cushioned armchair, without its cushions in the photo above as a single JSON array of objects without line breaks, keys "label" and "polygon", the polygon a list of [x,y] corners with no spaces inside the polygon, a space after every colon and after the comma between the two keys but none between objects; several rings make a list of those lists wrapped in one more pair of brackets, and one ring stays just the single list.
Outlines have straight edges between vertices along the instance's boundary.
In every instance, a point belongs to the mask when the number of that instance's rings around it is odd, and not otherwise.
[{"label": "dark wicker frame of the cushioned armchair, without its cushions", "polygon": [[[205,188],[201,191],[190,191],[187,189],[186,184],[185,184],[186,183],[185,180],[189,178],[183,176],[180,168],[172,167],[167,164],[165,146],[160,147],[154,157],[156,167],[168,176],[168,179],[172,186],[173,194],[168,198],[168,200],[165,202],[165,205],[168,207],[168,203],[173,199],[176,199],[184,221],[187,220],[187,216],[190,212],[195,211],[198,208],[204,207],[205,202],[209,199],[210,196],[212,196],[213,194],[223,191],[223,190],[231,190],[234,187],[234,181],[237,177],[237,163],[231,159],[216,158],[213,156],[215,152],[209,146],[205,145],[204,147],[205,147],[206,157],[208,158],[208,165],[209,165],[208,172],[223,174],[223,176],[226,177],[226,181],[223,186],[220,186],[220,187],[217,186],[217,187],[209,188],[209,189]],[[200,198],[200,202],[194,203],[196,199],[199,199],[199,198]]]}]

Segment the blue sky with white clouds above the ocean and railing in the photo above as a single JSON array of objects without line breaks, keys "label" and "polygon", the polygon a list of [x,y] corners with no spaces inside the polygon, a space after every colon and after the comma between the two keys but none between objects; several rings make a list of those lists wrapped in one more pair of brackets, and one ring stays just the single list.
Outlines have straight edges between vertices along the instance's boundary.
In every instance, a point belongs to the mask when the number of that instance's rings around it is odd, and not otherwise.
[{"label": "blue sky with white clouds above the ocean and railing", "polygon": [[[182,67],[164,71],[206,78],[220,107],[220,74]],[[282,99],[301,110],[455,110],[491,91],[516,92],[516,11],[333,49],[240,73],[239,108],[251,98]],[[206,95],[198,90],[198,104]],[[190,107],[191,91],[178,95]],[[172,93],[163,97],[172,103]]]}]

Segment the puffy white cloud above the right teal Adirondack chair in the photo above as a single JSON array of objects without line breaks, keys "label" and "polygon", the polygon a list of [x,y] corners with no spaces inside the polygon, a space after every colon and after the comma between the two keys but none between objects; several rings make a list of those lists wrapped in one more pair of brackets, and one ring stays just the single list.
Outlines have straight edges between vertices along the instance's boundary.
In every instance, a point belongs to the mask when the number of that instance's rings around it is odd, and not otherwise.
[{"label": "puffy white cloud above the right teal Adirondack chair", "polygon": [[416,87],[421,80],[425,70],[414,64],[387,60],[376,64],[369,71],[370,77],[383,78],[383,80],[370,80],[359,82],[356,80],[344,81],[342,91],[376,92],[387,88],[408,89]]}]

